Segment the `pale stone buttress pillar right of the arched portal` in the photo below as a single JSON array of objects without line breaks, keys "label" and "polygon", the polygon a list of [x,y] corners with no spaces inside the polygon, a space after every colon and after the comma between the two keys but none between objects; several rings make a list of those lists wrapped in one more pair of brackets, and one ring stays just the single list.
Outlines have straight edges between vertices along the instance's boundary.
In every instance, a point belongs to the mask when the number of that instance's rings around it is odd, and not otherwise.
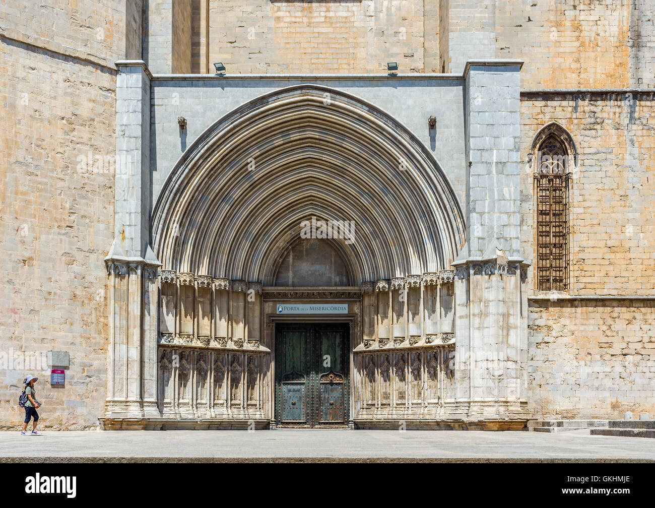
[{"label": "pale stone buttress pillar right of the arched portal", "polygon": [[[519,245],[521,62],[468,62],[466,245],[453,263],[458,416],[470,427],[520,428],[525,390],[527,261]],[[527,300],[526,300],[527,301]]]}]

